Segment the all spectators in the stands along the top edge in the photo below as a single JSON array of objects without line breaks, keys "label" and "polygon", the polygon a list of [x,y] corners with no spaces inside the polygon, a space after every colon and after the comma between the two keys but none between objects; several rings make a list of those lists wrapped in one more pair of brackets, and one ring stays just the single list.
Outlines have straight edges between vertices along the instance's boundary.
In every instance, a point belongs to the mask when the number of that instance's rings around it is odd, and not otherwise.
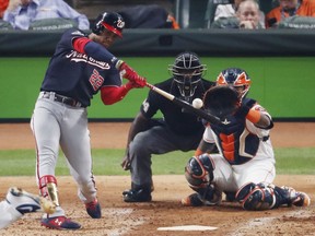
[{"label": "all spectators in the stands along the top edge", "polygon": [[[215,5],[208,28],[315,28],[315,0],[272,0],[276,4],[268,12],[260,9],[259,1],[229,0]],[[117,12],[125,19],[126,28],[180,28],[163,5],[137,4]],[[0,0],[0,30],[90,30],[91,21],[63,0]]]}]

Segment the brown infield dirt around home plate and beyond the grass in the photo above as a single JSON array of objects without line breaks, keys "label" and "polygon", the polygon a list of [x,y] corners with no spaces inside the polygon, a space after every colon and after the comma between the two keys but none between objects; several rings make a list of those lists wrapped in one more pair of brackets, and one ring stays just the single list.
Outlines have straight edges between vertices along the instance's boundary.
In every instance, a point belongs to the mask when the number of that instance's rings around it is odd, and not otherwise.
[{"label": "brown infield dirt around home plate and beyond the grass", "polygon": [[[124,148],[130,123],[91,123],[93,148]],[[110,142],[106,142],[110,140]],[[276,123],[271,133],[273,145],[315,146],[315,123]],[[33,149],[28,125],[1,125],[0,149]],[[184,208],[180,198],[191,191],[184,176],[153,176],[155,190],[150,203],[125,203],[121,191],[129,187],[129,177],[96,176],[103,217],[92,220],[77,197],[71,177],[57,177],[60,201],[69,217],[82,224],[78,232],[57,232],[39,225],[40,213],[28,214],[0,235],[315,235],[315,204],[310,208],[281,208],[272,211],[246,212],[237,203],[221,206]],[[315,176],[277,176],[276,184],[290,185],[315,198]],[[0,198],[10,186],[37,192],[35,177],[0,178]],[[164,232],[159,227],[203,225],[218,227],[212,232]]]}]

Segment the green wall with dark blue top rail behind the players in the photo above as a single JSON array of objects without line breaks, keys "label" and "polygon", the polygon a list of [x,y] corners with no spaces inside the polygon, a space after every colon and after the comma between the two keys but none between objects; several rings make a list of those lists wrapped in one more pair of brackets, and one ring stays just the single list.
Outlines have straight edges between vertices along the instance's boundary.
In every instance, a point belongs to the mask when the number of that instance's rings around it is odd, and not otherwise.
[{"label": "green wall with dark blue top rail behind the players", "polygon": [[[252,76],[249,96],[258,99],[277,120],[315,121],[314,30],[212,30],[205,27],[208,0],[66,0],[91,23],[104,11],[136,4],[160,4],[176,16],[180,30],[127,28],[109,49],[151,83],[170,76],[167,64],[184,50],[197,52],[208,66],[206,79],[215,80],[228,67],[242,67]],[[215,1],[215,0],[211,0]],[[217,0],[226,1],[226,0]],[[264,11],[273,0],[259,1]],[[209,10],[209,9],[208,9]],[[50,56],[61,32],[0,31],[0,121],[28,121]],[[96,95],[92,120],[130,120],[148,90],[104,107]]]}]

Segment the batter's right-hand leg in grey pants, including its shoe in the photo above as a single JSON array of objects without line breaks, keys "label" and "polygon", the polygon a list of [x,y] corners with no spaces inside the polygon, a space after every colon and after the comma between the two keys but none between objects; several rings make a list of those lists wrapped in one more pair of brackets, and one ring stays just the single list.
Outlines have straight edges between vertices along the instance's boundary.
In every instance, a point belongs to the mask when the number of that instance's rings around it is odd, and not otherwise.
[{"label": "batter's right-hand leg in grey pants, including its shoe", "polygon": [[100,214],[91,215],[89,211],[88,213],[92,217],[101,217],[101,206],[96,199],[95,179],[92,174],[90,131],[85,109],[67,110],[67,119],[61,122],[60,144],[69,163],[70,173],[79,186],[79,198],[85,203],[86,210],[95,204]]}]

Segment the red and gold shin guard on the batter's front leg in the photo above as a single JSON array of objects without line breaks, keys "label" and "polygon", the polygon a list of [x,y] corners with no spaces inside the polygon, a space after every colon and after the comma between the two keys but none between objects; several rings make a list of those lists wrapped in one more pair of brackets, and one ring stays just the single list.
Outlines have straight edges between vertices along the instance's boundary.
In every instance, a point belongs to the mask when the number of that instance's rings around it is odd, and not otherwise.
[{"label": "red and gold shin guard on the batter's front leg", "polygon": [[39,179],[39,190],[44,198],[49,198],[56,205],[59,205],[57,179],[55,176],[46,175]]}]

